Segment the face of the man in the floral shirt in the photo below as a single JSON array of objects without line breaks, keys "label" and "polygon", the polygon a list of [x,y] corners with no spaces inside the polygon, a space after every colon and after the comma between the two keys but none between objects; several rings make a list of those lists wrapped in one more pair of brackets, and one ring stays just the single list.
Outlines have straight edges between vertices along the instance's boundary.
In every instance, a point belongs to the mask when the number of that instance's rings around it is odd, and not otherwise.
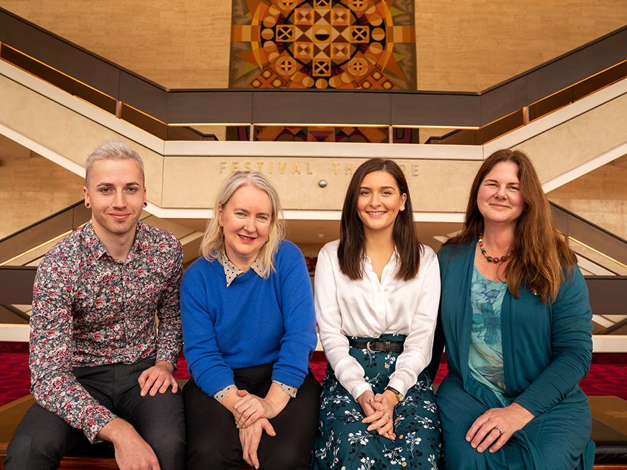
[{"label": "face of the man in the floral shirt", "polygon": [[131,159],[93,162],[85,202],[91,204],[93,229],[103,242],[113,237],[134,235],[146,201],[144,177]]}]

